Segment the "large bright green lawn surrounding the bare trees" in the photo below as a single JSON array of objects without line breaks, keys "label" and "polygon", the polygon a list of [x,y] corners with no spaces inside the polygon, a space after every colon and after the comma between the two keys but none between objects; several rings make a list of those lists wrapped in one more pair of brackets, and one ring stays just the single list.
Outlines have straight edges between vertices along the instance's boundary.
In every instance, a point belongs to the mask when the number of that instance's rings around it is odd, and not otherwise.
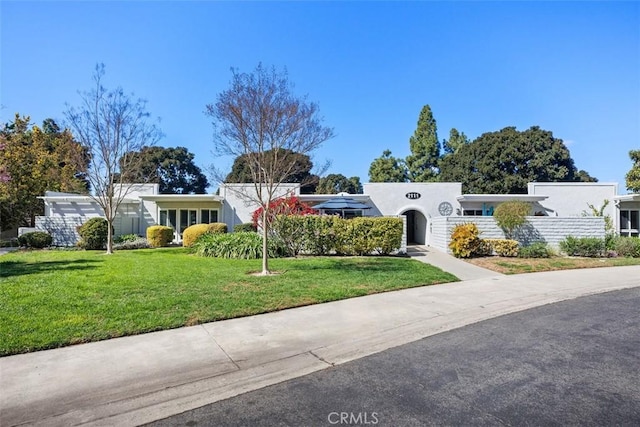
[{"label": "large bright green lawn surrounding the bare trees", "polygon": [[456,277],[407,258],[200,258],[181,248],[0,257],[0,355],[195,325]]}]

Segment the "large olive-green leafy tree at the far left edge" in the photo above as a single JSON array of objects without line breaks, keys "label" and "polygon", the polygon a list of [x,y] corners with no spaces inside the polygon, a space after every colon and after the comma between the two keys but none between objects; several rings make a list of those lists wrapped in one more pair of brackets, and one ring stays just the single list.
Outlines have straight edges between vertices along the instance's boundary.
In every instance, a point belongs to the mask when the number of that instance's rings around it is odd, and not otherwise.
[{"label": "large olive-green leafy tree at the far left edge", "polygon": [[88,156],[68,130],[52,119],[42,127],[15,115],[0,130],[0,227],[35,225],[44,215],[45,191],[87,193]]}]

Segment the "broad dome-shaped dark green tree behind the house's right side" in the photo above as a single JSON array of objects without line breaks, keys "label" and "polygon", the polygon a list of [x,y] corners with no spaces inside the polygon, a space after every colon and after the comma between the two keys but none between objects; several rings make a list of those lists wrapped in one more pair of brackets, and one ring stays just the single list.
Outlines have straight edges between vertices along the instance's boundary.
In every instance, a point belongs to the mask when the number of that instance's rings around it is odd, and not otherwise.
[{"label": "broad dome-shaped dark green tree behind the house's right side", "polygon": [[462,182],[466,193],[525,194],[527,183],[593,181],[578,171],[569,150],[550,131],[507,127],[479,136],[446,156],[440,179]]}]

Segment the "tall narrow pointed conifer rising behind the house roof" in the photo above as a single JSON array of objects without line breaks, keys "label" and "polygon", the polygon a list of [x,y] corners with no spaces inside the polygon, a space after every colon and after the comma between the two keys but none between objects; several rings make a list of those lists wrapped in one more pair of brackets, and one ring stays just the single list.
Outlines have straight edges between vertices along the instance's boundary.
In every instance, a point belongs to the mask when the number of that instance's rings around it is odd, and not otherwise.
[{"label": "tall narrow pointed conifer rising behind the house roof", "polygon": [[420,111],[418,127],[409,139],[409,148],[411,154],[406,159],[409,180],[412,182],[437,181],[440,141],[436,120],[429,105],[425,105]]}]

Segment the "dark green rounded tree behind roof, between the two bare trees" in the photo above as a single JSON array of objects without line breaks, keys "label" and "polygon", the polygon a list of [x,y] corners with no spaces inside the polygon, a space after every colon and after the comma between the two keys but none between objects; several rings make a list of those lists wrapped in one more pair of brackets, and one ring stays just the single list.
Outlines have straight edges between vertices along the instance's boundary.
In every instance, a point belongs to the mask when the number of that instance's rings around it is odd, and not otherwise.
[{"label": "dark green rounded tree behind roof, between the two bare trees", "polygon": [[124,180],[127,182],[159,184],[162,194],[194,194],[207,190],[207,177],[194,163],[193,153],[185,147],[142,147],[128,155],[139,159],[133,162],[135,168],[126,170]]}]

